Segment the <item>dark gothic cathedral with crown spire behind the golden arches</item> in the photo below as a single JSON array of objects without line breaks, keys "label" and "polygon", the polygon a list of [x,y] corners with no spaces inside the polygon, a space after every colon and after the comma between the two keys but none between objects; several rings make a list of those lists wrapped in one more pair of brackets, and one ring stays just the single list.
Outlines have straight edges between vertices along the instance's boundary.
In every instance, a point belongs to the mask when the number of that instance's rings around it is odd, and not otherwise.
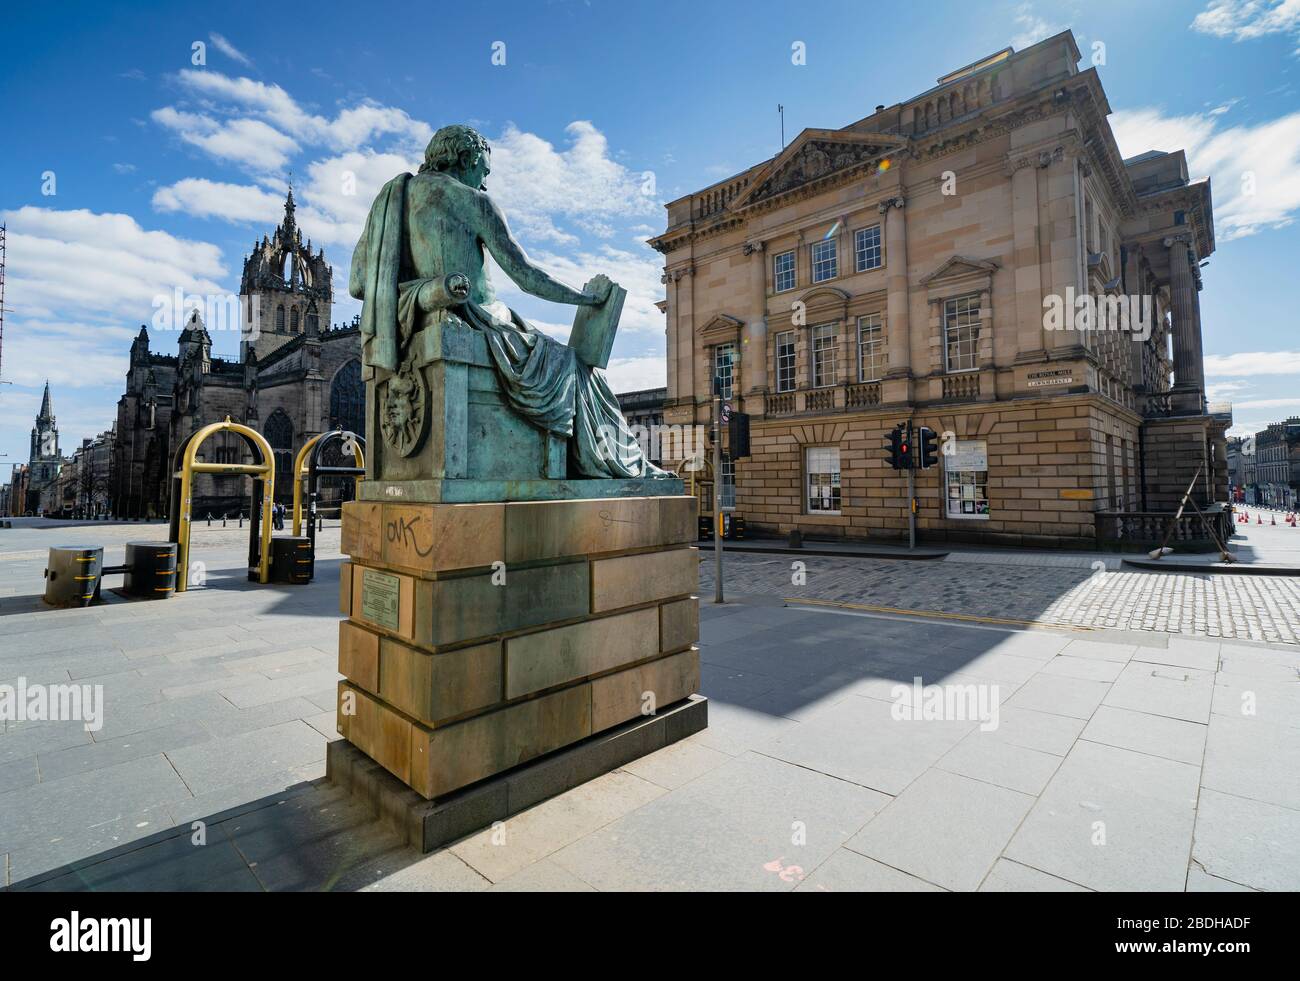
[{"label": "dark gothic cathedral with crown spire behind the golden arches", "polygon": [[[303,243],[294,210],[290,188],[280,226],[244,259],[239,360],[212,356],[198,311],[185,322],[176,353],[153,353],[144,326],[131,343],[112,477],[120,516],[164,517],[178,447],[226,416],[266,438],[276,456],[276,499],[285,503],[292,500],[294,457],[309,438],[339,426],[365,431],[359,329],[355,322],[329,326],[333,270],[324,249],[313,252],[311,239]],[[199,456],[252,463],[243,439],[226,433],[204,442]],[[247,509],[248,491],[247,477],[199,474],[191,513],[195,520],[233,517]],[[350,495],[351,489],[335,491]]]}]

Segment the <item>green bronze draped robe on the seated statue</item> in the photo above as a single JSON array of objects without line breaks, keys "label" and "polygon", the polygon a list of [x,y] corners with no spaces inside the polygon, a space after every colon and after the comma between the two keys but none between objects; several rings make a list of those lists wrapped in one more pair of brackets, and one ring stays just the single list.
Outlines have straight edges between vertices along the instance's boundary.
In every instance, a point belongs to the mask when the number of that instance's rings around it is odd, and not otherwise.
[{"label": "green bronze draped robe on the seated statue", "polygon": [[[584,364],[571,347],[541,333],[500,300],[480,305],[450,299],[447,277],[402,278],[410,272],[402,262],[410,179],[410,174],[400,174],[385,185],[356,246],[364,256],[361,343],[367,363],[398,370],[425,313],[442,308],[446,316],[482,331],[502,392],[515,412],[568,440],[571,477],[671,477],[645,459],[599,368]],[[476,246],[482,248],[481,242]],[[358,274],[355,262],[352,274]],[[432,303],[430,298],[441,300]]]}]

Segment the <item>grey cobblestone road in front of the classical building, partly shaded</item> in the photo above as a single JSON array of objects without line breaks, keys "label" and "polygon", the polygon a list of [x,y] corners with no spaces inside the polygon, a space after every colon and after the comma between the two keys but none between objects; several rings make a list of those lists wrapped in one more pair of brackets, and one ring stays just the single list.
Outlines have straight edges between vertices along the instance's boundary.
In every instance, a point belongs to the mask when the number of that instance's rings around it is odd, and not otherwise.
[{"label": "grey cobblestone road in front of the classical building, partly shaded", "polygon": [[[714,589],[702,552],[701,595]],[[797,582],[805,564],[806,581]],[[1300,578],[728,552],[738,595],[836,600],[1041,624],[1300,643]]]}]

